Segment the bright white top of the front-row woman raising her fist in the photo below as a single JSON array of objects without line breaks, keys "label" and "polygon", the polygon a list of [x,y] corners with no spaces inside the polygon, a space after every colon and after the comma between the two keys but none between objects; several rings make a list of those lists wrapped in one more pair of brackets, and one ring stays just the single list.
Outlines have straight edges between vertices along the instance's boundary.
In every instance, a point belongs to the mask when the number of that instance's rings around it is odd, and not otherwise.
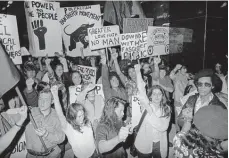
[{"label": "bright white top of the front-row woman raising her fist", "polygon": [[95,142],[93,131],[90,126],[82,127],[81,133],[75,130],[72,125],[67,122],[67,126],[63,131],[77,158],[89,158],[93,155],[95,151]]}]

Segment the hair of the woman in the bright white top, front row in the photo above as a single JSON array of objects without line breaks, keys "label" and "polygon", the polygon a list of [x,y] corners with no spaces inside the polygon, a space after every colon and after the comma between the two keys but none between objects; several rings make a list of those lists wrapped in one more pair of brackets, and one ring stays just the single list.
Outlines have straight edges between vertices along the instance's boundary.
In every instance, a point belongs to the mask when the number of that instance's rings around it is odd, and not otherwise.
[{"label": "hair of the woman in the bright white top, front row", "polygon": [[84,112],[84,125],[89,125],[89,121],[87,118],[86,109],[83,107],[82,104],[79,103],[72,103],[69,105],[66,113],[66,120],[68,123],[72,125],[72,127],[80,132],[80,125],[76,122],[78,112],[82,110]]}]

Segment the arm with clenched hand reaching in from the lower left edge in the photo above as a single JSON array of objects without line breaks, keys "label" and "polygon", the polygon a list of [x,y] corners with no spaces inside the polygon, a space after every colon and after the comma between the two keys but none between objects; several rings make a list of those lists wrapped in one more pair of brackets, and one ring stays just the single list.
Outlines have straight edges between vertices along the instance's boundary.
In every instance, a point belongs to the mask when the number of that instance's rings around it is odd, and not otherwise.
[{"label": "arm with clenched hand reaching in from the lower left edge", "polygon": [[22,106],[18,113],[20,114],[20,120],[2,137],[0,137],[0,155],[11,144],[17,132],[21,129],[22,124],[27,118],[27,106]]}]

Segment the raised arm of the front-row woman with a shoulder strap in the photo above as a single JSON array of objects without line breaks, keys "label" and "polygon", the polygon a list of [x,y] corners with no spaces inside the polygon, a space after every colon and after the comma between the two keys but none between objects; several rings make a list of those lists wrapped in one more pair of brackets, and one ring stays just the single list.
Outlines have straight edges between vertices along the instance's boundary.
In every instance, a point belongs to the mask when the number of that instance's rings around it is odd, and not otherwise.
[{"label": "raised arm of the front-row woman with a shoulder strap", "polygon": [[140,100],[141,105],[143,105],[145,107],[145,109],[147,110],[147,112],[151,115],[152,114],[152,108],[149,105],[149,99],[146,95],[146,90],[145,90],[145,82],[142,79],[141,76],[141,65],[137,64],[134,66],[135,68],[135,72],[136,72],[136,76],[137,76],[137,86],[138,86],[138,91],[139,91],[139,95],[138,98]]}]

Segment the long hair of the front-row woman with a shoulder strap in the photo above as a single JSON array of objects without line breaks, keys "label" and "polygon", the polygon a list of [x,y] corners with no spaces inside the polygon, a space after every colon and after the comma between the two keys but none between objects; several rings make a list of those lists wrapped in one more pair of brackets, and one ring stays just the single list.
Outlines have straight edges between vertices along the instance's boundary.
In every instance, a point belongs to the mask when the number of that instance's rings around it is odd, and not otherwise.
[{"label": "long hair of the front-row woman with a shoulder strap", "polygon": [[166,97],[165,91],[161,86],[153,85],[151,88],[148,89],[147,96],[148,96],[149,100],[151,101],[151,96],[152,96],[153,90],[155,90],[155,89],[159,89],[161,91],[161,93],[162,93],[162,100],[161,100],[161,103],[160,103],[160,108],[162,109],[164,115],[161,116],[161,117],[170,116],[171,109],[168,106],[168,99]]}]

